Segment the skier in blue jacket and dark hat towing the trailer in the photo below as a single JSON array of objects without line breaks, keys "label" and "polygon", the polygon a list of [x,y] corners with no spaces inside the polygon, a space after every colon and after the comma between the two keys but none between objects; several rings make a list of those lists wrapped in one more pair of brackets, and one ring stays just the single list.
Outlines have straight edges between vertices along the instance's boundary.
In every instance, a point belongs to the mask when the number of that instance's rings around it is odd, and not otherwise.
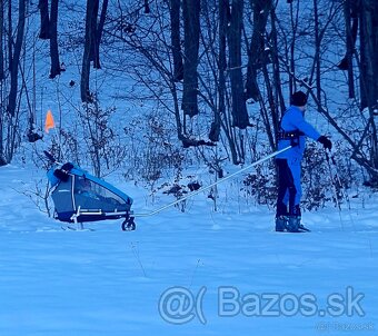
[{"label": "skier in blue jacket and dark hat towing the trailer", "polygon": [[325,149],[331,149],[332,142],[305,120],[307,96],[297,91],[290,97],[290,107],[286,110],[278,134],[278,149],[292,148],[276,157],[278,167],[278,197],[276,231],[299,233],[307,230],[300,224],[300,165],[304,157],[306,137],[320,142]]}]

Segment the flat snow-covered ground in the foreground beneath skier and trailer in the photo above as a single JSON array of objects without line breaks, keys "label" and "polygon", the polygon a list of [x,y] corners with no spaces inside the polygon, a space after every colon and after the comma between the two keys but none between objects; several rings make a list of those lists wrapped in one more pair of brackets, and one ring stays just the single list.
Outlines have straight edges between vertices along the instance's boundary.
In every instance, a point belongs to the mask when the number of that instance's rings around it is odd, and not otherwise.
[{"label": "flat snow-covered ground in the foreground beneath skier and trailer", "polygon": [[[40,177],[0,168],[1,336],[378,333],[377,198],[305,213],[310,234],[275,233],[267,207],[213,213],[206,195],[132,233],[64,231],[22,194]],[[136,213],[169,201],[119,186]]]}]

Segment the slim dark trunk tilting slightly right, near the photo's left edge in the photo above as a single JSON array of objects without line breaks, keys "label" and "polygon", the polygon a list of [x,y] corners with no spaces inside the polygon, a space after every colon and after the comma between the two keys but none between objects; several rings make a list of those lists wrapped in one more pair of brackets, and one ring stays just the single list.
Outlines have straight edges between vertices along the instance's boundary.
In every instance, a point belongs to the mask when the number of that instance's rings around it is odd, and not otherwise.
[{"label": "slim dark trunk tilting slightly right, near the photo's left edge", "polygon": [[[16,111],[16,100],[18,92],[18,75],[19,75],[19,63],[20,55],[23,43],[23,31],[24,31],[24,19],[26,19],[26,0],[19,0],[19,21],[17,29],[17,38],[14,43],[14,52],[11,57],[10,66],[10,91],[8,101],[8,112],[10,116],[14,116]],[[9,41],[11,45],[11,40]]]}]

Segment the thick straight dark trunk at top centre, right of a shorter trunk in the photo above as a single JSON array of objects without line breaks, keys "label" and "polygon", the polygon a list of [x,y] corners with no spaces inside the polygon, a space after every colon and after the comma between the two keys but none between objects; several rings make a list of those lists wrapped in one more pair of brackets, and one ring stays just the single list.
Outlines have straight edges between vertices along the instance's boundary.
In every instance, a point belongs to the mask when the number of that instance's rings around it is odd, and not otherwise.
[{"label": "thick straight dark trunk at top centre, right of a shorter trunk", "polygon": [[198,115],[198,51],[199,51],[199,32],[200,32],[200,0],[183,0],[183,93],[182,110],[183,113],[193,117]]}]

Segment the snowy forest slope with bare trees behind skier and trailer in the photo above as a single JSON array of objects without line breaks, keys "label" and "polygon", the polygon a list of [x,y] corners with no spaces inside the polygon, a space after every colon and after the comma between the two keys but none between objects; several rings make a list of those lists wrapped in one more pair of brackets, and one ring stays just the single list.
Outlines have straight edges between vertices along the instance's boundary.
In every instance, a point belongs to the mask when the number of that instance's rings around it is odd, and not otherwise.
[{"label": "snowy forest slope with bare trees behind skier and trailer", "polygon": [[[302,90],[335,147],[309,144],[304,206],[378,185],[377,1],[3,0],[0,45],[1,165],[48,168],[47,149],[179,197],[188,168],[217,180],[272,152]],[[240,190],[272,204],[275,185],[270,162]]]}]

